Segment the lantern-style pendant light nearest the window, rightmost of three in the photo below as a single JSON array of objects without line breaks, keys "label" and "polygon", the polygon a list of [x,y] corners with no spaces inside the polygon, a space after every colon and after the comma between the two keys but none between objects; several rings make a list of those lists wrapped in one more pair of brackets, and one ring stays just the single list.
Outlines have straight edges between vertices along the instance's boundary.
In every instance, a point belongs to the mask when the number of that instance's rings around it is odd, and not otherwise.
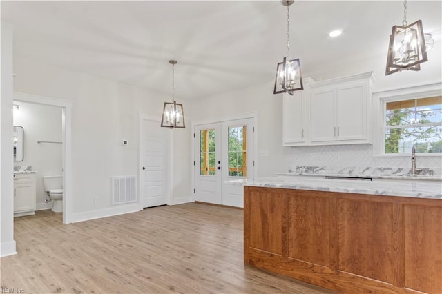
[{"label": "lantern-style pendant light nearest the window, rightmost of three", "polygon": [[421,63],[428,61],[422,21],[407,23],[407,0],[403,2],[402,26],[393,26],[388,47],[385,75],[402,70],[421,70]]}]

